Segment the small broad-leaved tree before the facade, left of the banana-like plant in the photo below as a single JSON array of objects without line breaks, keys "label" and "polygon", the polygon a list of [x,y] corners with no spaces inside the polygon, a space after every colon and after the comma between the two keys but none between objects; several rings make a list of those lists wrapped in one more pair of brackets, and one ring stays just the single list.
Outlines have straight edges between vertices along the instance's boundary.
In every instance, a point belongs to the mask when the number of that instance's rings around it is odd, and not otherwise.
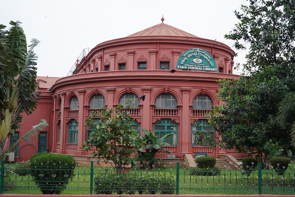
[{"label": "small broad-leaved tree before the facade, left of the banana-like plant", "polygon": [[[95,147],[92,152],[93,157],[110,161],[114,163],[116,172],[119,172],[122,165],[132,166],[135,164],[131,154],[135,153],[142,146],[142,138],[134,130],[134,120],[130,117],[131,105],[118,105],[115,108],[101,109],[101,112],[91,112],[89,118],[86,119],[85,126],[94,126],[96,131],[89,135],[87,141],[84,141],[80,149],[88,152],[91,147]],[[95,122],[95,118],[100,120]]]}]

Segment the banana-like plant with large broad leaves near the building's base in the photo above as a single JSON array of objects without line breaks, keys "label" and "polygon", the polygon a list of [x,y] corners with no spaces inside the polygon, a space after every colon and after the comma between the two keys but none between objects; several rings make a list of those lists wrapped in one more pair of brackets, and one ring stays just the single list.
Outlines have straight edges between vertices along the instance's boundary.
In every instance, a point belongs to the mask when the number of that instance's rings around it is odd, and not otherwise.
[{"label": "banana-like plant with large broad leaves near the building's base", "polygon": [[156,159],[156,153],[158,151],[165,151],[166,153],[170,153],[167,149],[161,146],[170,146],[169,143],[165,142],[165,138],[173,135],[173,133],[167,133],[160,139],[155,135],[155,132],[151,130],[146,130],[141,128],[143,132],[143,146],[138,149],[137,159],[140,160],[141,166],[143,166],[142,160],[148,162],[148,168],[153,169],[153,165],[155,162],[158,162]]}]

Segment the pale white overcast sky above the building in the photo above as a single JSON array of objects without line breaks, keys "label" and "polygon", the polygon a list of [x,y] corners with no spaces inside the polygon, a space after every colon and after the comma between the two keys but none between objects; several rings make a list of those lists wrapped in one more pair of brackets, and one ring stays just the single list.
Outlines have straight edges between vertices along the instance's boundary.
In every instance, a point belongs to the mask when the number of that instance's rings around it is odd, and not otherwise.
[{"label": "pale white overcast sky above the building", "polygon": [[[1,2],[0,24],[20,21],[27,36],[41,42],[37,75],[66,76],[84,48],[123,38],[164,23],[201,38],[217,40],[232,47],[225,34],[235,27],[245,0],[9,0]],[[232,48],[235,50],[234,48]],[[245,63],[245,51],[236,51],[236,63]],[[233,73],[240,74],[234,70]]]}]

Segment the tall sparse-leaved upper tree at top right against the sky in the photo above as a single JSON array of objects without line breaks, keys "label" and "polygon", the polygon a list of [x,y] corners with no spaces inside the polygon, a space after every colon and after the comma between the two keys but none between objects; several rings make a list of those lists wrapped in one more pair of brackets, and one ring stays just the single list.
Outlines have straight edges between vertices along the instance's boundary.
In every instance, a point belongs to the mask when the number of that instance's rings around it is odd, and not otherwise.
[{"label": "tall sparse-leaved upper tree at top right against the sky", "polygon": [[235,41],[236,49],[247,49],[246,70],[264,65],[293,63],[295,60],[295,1],[247,0],[240,20],[225,38]]}]

